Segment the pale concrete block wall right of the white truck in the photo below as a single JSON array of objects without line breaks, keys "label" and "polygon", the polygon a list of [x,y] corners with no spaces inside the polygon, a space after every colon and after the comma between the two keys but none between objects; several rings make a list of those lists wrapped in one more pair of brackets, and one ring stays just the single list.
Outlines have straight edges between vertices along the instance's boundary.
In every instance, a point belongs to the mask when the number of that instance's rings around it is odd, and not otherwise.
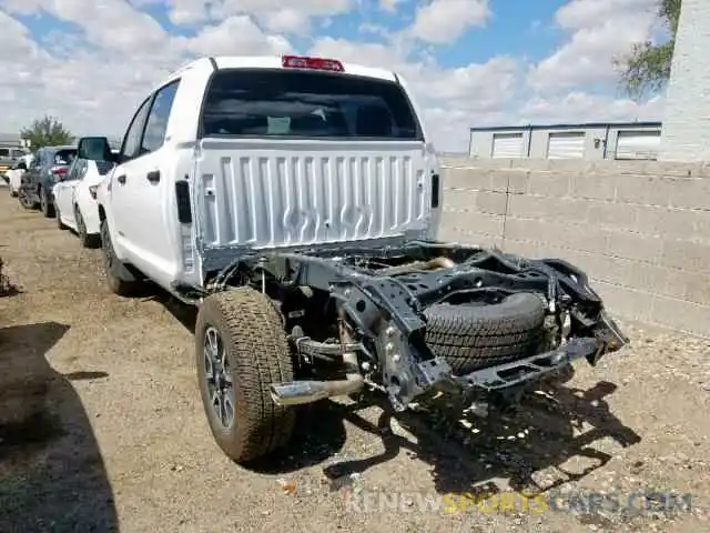
[{"label": "pale concrete block wall right of the white truck", "polygon": [[710,164],[443,161],[439,238],[558,257],[612,313],[710,338]]}]

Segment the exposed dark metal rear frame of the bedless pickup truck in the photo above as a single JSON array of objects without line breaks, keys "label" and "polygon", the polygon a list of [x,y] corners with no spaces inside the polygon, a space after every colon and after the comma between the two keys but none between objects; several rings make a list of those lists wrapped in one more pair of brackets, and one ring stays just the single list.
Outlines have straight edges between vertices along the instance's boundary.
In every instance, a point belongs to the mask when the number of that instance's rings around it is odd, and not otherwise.
[{"label": "exposed dark metal rear frame of the bedless pickup truck", "polygon": [[[521,388],[578,359],[594,366],[605,353],[629,342],[589,286],[587,275],[566,261],[528,260],[497,250],[433,241],[255,251],[221,270],[207,290],[191,298],[207,301],[225,293],[245,300],[264,296],[264,305],[275,304],[282,321],[277,328],[283,326],[291,348],[294,379],[262,385],[284,409],[354,394],[364,386],[383,391],[395,411],[435,391],[508,401]],[[450,329],[456,323],[437,322],[437,316],[427,316],[427,312],[445,302],[454,302],[455,313],[465,308],[475,311],[476,302],[484,309],[516,294],[535,295],[544,310],[537,342],[528,345],[527,352],[519,350],[514,356],[490,359],[478,362],[471,371],[455,372],[445,356],[447,342],[440,334],[447,333],[442,328]],[[474,308],[469,308],[471,304]],[[434,336],[427,331],[433,319],[439,328]],[[507,319],[491,320],[505,325]],[[485,328],[485,316],[463,316],[458,332],[471,324]],[[260,326],[263,324],[254,324],[254,332],[263,341],[273,335],[267,328],[266,334],[260,334]],[[457,331],[448,333],[456,335]],[[503,339],[510,332],[500,333]],[[475,338],[470,339],[469,344],[475,346]],[[525,344],[517,341],[520,346]],[[196,342],[199,346],[200,340]],[[462,339],[460,348],[466,349],[465,344],[466,339]],[[313,374],[320,379],[313,379]],[[203,379],[210,382],[212,378],[205,374]],[[225,408],[220,402],[227,401],[229,380],[221,381],[215,374],[213,382],[224,385],[215,386],[210,396],[216,412],[222,413]],[[215,436],[220,441],[219,434]],[[234,453],[229,445],[223,449],[237,460],[253,455]]]}]

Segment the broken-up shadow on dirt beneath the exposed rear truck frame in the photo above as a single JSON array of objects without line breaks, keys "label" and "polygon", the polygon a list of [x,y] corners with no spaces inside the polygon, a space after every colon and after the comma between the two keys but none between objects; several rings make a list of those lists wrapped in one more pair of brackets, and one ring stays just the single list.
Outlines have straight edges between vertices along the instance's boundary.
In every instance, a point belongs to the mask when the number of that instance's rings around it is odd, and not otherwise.
[{"label": "broken-up shadow on dirt beneath the exposed rear truck frame", "polygon": [[[610,438],[627,447],[641,441],[604,401],[615,390],[616,385],[604,381],[587,391],[547,385],[545,394],[528,394],[518,409],[491,411],[485,419],[460,413],[456,416],[456,411],[443,405],[395,416],[383,409],[378,423],[371,424],[357,414],[356,406],[343,406],[345,420],[378,435],[385,451],[333,464],[325,474],[339,485],[346,476],[404,451],[433,466],[436,490],[443,494],[496,493],[499,489],[490,482],[493,479],[507,480],[518,492],[546,492],[579,480],[611,460],[594,446],[595,442]],[[416,444],[392,431],[393,418],[416,435]],[[567,470],[565,463],[572,459],[588,464]],[[547,483],[536,480],[535,474],[541,471],[550,477]]]}]

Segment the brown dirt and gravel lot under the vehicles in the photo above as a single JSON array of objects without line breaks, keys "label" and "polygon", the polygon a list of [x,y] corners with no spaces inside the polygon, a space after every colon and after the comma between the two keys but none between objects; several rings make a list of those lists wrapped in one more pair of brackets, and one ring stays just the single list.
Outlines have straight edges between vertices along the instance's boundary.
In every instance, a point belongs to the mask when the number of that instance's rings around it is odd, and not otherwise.
[{"label": "brown dirt and gravel lot under the vehicles", "polygon": [[[623,324],[630,349],[489,422],[325,402],[282,460],[245,470],[209,433],[190,310],[109,294],[100,252],[7,189],[0,255],[21,290],[0,298],[2,532],[708,531],[708,341]],[[473,500],[535,483],[559,510]],[[641,491],[691,493],[692,510],[582,505]]]}]

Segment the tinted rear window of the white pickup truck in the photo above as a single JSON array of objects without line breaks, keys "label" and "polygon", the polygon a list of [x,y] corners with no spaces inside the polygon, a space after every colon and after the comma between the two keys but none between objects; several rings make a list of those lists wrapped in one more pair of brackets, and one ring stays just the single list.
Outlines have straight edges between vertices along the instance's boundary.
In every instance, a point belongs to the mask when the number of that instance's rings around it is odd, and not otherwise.
[{"label": "tinted rear window of the white pickup truck", "polygon": [[201,125],[203,137],[422,140],[398,83],[331,72],[219,71]]}]

